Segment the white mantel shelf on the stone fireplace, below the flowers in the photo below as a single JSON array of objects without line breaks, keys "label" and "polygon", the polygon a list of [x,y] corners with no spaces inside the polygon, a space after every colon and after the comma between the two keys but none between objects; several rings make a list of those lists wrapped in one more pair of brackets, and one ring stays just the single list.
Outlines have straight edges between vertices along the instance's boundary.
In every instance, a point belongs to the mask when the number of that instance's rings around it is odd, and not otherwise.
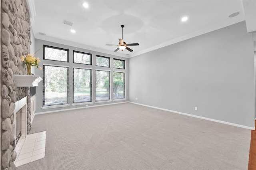
[{"label": "white mantel shelf on the stone fireplace, below the flowers", "polygon": [[17,87],[34,87],[38,86],[38,83],[42,81],[39,75],[14,75],[14,81]]}]

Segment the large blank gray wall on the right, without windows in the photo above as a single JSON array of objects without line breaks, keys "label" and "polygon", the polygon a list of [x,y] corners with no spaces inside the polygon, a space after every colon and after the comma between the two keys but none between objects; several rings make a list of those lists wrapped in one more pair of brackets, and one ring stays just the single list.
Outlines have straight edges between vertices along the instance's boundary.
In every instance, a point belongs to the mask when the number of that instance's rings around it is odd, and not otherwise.
[{"label": "large blank gray wall on the right, without windows", "polygon": [[245,22],[129,62],[129,101],[254,127],[254,50]]}]

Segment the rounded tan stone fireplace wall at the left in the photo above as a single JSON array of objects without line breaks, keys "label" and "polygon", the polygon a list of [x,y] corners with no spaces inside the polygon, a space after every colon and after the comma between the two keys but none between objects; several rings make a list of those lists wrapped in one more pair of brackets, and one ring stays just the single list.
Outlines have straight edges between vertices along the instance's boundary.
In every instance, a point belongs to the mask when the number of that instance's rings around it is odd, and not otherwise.
[{"label": "rounded tan stone fireplace wall at the left", "polygon": [[27,96],[28,131],[31,128],[30,87],[17,87],[13,75],[26,75],[22,55],[30,53],[30,16],[26,0],[1,0],[1,136],[2,170],[15,170],[15,102]]}]

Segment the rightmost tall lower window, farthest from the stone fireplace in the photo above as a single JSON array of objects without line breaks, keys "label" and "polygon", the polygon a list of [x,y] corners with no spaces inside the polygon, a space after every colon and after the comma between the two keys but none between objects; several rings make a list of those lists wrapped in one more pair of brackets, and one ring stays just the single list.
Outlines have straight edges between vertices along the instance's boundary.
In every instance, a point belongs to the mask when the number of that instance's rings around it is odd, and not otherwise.
[{"label": "rightmost tall lower window, farthest from the stone fireplace", "polygon": [[113,99],[124,99],[124,73],[113,73]]}]

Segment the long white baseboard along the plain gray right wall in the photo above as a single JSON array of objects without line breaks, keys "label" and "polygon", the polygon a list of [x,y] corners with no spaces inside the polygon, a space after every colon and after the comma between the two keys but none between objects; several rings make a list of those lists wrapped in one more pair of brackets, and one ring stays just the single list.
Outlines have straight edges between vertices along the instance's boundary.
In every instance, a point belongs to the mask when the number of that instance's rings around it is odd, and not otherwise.
[{"label": "long white baseboard along the plain gray right wall", "polygon": [[[207,118],[207,117],[201,117],[201,116],[191,115],[191,114],[188,114],[188,113],[182,113],[182,112],[178,112],[178,111],[172,111],[172,110],[168,110],[168,109],[162,109],[162,108],[160,108],[160,107],[154,107],[154,106],[149,106],[149,105],[143,105],[143,104],[140,104],[140,103],[134,103],[134,102],[130,102],[130,101],[128,101],[128,103],[133,103],[133,104],[136,104],[136,105],[142,105],[142,106],[146,106],[146,107],[151,107],[151,108],[154,108],[154,109],[159,109],[159,110],[168,111],[168,112],[172,112],[172,113],[178,113],[178,114],[186,115],[186,116],[190,116],[190,117],[196,117],[196,118],[204,119],[204,120],[208,120],[208,121],[223,123],[223,124],[226,124],[226,125],[232,125],[232,126],[235,126],[235,127],[247,128],[247,129],[250,129],[250,130],[254,130],[254,129],[255,129],[255,127],[247,127],[247,126],[238,125],[238,124],[235,124],[235,123],[229,123],[229,122],[225,122],[225,121],[219,121],[219,120],[216,120],[216,119],[210,119],[210,118]],[[256,119],[256,118],[255,118],[255,119]]]}]

